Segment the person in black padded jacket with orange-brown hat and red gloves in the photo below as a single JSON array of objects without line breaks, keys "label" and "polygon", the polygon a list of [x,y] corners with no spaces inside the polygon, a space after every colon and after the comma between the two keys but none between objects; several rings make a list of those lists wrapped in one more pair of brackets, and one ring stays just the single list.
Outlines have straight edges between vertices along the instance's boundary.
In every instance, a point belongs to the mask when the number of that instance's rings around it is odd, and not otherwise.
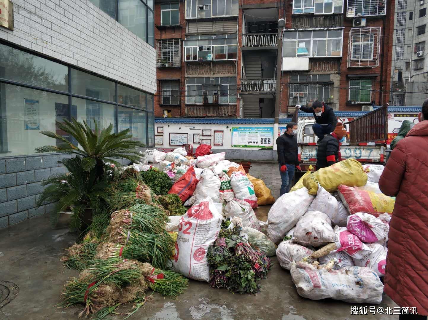
[{"label": "person in black padded jacket with orange-brown hat and red gloves", "polygon": [[340,140],[346,135],[346,128],[338,123],[333,133],[327,135],[318,144],[317,170],[329,167],[342,160],[340,156]]}]

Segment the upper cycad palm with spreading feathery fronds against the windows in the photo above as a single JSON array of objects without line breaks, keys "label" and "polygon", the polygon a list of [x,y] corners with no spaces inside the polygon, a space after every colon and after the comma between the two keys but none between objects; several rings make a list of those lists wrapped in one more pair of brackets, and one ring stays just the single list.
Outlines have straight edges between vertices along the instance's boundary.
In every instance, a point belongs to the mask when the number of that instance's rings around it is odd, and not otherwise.
[{"label": "upper cycad palm with spreading feathery fronds against the windows", "polygon": [[[112,133],[113,124],[107,128],[98,130],[98,124],[94,119],[95,130],[85,122],[78,122],[76,119],[64,122],[56,121],[56,127],[72,136],[77,145],[74,145],[63,136],[51,131],[41,131],[40,133],[63,142],[61,145],[44,145],[36,148],[36,152],[62,152],[65,154],[74,154],[82,157],[81,165],[84,171],[96,168],[96,180],[100,181],[105,175],[104,165],[107,162],[120,166],[114,159],[127,159],[130,161],[138,160],[138,151],[136,147],[145,145],[132,139],[129,129]],[[99,133],[99,134],[98,134]]]}]

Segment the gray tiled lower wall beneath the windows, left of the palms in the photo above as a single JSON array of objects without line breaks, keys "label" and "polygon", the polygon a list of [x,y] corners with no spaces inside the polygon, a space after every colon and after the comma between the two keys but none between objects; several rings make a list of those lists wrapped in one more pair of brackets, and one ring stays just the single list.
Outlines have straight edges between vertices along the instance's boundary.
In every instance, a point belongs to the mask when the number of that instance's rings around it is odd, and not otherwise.
[{"label": "gray tiled lower wall beneath the windows, left of the palms", "polygon": [[57,163],[66,155],[16,157],[0,159],[0,228],[53,210],[53,204],[36,208],[37,196],[43,192],[43,180],[64,173]]}]

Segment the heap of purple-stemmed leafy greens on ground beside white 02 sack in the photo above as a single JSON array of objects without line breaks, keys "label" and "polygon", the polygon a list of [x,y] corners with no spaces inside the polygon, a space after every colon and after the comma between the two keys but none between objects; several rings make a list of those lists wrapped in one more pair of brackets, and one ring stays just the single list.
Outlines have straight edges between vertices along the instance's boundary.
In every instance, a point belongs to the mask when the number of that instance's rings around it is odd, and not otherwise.
[{"label": "heap of purple-stemmed leafy greens on ground beside white 02 sack", "polygon": [[210,285],[234,293],[254,294],[260,291],[257,281],[266,276],[272,264],[264,252],[254,250],[241,237],[240,229],[221,230],[214,245],[208,249]]}]

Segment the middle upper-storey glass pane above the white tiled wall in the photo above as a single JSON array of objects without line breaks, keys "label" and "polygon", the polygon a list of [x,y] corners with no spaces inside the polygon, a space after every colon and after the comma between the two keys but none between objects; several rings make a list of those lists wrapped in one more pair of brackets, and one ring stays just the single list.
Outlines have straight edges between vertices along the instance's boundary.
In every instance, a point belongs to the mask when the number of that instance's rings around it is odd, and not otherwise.
[{"label": "middle upper-storey glass pane above the white tiled wall", "polygon": [[119,23],[146,41],[147,6],[140,0],[119,0]]}]

